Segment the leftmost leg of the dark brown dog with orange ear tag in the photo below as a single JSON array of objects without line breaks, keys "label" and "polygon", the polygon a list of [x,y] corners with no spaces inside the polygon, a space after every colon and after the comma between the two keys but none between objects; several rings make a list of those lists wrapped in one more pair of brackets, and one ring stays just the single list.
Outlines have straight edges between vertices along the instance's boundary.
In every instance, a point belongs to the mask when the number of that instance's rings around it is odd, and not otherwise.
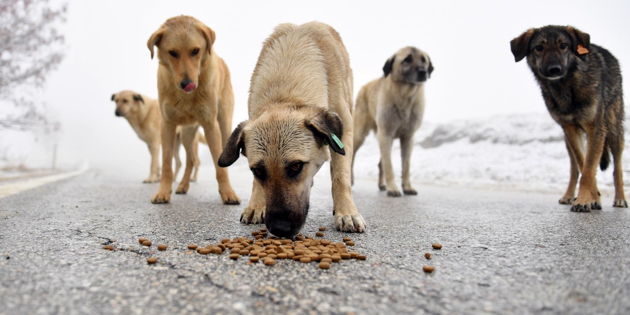
[{"label": "leftmost leg of the dark brown dog with orange ear tag", "polygon": [[584,157],[582,154],[584,134],[575,125],[564,125],[564,144],[569,155],[571,163],[571,173],[569,185],[566,188],[564,196],[558,200],[559,203],[570,205],[575,200],[575,187],[580,178],[580,169],[583,165]]}]

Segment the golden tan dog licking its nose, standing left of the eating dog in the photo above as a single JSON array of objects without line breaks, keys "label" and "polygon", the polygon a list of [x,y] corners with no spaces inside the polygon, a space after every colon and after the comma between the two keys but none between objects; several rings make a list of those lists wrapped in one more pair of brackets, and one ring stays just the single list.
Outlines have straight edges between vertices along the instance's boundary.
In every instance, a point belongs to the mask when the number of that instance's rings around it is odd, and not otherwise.
[{"label": "golden tan dog licking its nose, standing left of the eating dog", "polygon": [[241,199],[230,184],[226,168],[217,165],[232,130],[234,93],[226,63],[212,49],[214,31],[192,16],[169,18],[147,41],[153,57],[157,47],[157,91],[162,116],[162,178],[152,203],[171,201],[173,144],[176,128],[186,149],[184,179],[176,193],[188,192],[194,161],[193,142],[199,125],[203,128],[214,161],[223,203],[238,205]]}]

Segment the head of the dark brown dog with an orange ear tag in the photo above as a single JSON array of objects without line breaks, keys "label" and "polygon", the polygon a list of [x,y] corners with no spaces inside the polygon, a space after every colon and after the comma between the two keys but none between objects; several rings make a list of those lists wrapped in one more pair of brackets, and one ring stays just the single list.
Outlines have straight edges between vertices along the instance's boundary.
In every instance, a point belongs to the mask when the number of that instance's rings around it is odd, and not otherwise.
[{"label": "head of the dark brown dog with an orange ear tag", "polygon": [[590,36],[573,26],[548,25],[530,28],[510,42],[515,61],[527,57],[537,77],[564,77],[578,60],[587,58]]}]

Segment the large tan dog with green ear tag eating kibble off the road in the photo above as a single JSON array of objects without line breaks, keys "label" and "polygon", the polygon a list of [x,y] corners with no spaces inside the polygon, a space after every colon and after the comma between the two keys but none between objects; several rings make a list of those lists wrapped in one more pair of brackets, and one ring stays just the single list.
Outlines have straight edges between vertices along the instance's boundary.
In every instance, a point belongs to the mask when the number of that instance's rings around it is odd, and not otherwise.
[{"label": "large tan dog with green ear tag eating kibble off the road", "polygon": [[248,106],[249,120],[234,130],[219,159],[227,167],[241,152],[254,174],[241,222],[265,222],[281,237],[297,234],[313,176],[332,157],[335,227],[364,232],[350,186],[352,69],[339,34],[318,22],[278,25],[258,57]]}]

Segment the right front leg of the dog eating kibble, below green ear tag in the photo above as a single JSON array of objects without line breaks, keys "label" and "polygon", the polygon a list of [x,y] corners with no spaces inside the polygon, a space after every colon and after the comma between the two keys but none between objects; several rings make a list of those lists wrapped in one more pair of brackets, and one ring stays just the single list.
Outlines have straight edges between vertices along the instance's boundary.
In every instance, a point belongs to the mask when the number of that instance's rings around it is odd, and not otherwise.
[{"label": "right front leg of the dog eating kibble, below green ear tag", "polygon": [[[347,120],[346,120],[347,121]],[[350,118],[352,121],[352,118]],[[341,232],[365,232],[367,225],[363,215],[357,211],[352,197],[352,183],[350,168],[352,167],[352,130],[345,130],[341,142],[345,146],[345,155],[337,154],[330,149],[332,161],[330,163],[333,180],[333,214],[335,227]]]}]

